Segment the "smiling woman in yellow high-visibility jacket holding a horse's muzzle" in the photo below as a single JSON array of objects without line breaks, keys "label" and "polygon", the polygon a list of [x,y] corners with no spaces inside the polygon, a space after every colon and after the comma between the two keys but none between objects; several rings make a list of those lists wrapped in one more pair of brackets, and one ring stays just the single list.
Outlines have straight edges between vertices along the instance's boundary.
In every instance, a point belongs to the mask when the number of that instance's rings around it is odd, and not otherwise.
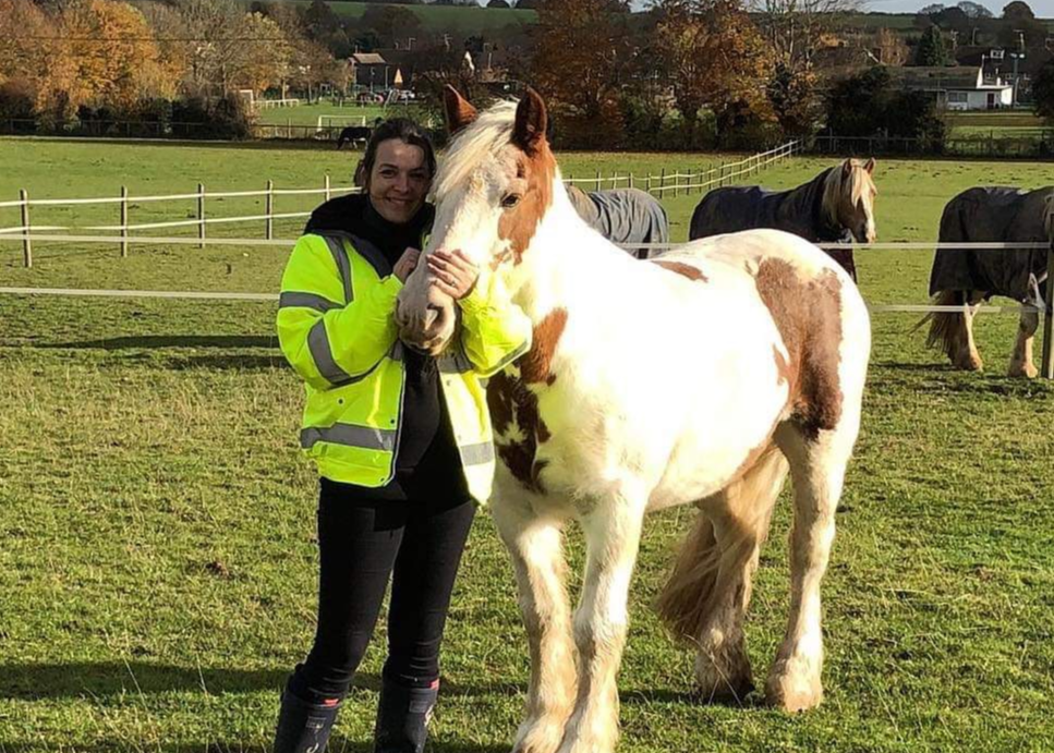
[{"label": "smiling woman in yellow high-visibility jacket holding a horse's muzzle", "polygon": [[282,693],[278,753],[325,748],[389,578],[375,750],[424,748],[473,498],[486,499],[494,467],[480,376],[530,340],[523,313],[441,251],[432,283],[459,302],[459,348],[437,362],[398,340],[396,296],[435,216],[435,167],[413,122],[379,125],[355,173],[362,193],[312,214],[282,277],[278,336],[306,384],[301,447],[322,478],[318,627]]}]

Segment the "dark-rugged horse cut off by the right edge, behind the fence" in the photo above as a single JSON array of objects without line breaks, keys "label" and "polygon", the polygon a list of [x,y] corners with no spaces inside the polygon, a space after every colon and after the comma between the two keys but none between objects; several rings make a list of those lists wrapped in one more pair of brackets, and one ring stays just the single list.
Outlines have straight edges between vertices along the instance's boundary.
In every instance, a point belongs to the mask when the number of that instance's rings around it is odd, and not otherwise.
[{"label": "dark-rugged horse cut off by the right edge, behind the fence", "polygon": [[[941,243],[996,241],[1047,243],[1054,234],[1054,189],[967,189],[944,207]],[[1050,270],[1046,251],[1026,248],[940,248],[930,271],[930,295],[938,305],[976,305],[993,295],[1043,305],[1042,284]],[[938,347],[955,368],[981,371],[973,342],[973,312],[935,312],[926,344]],[[1039,329],[1037,312],[1022,312],[1008,376],[1034,377],[1032,341]]]}]

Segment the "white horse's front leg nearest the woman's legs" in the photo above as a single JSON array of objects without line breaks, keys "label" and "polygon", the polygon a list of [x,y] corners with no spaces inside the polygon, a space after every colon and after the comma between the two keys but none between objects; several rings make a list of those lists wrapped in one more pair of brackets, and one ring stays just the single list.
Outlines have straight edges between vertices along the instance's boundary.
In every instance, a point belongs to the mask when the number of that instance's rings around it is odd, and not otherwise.
[{"label": "white horse's front leg nearest the woman's legs", "polygon": [[526,718],[512,750],[554,753],[574,703],[574,647],[560,521],[535,515],[530,502],[514,496],[497,496],[493,515],[512,557],[531,647]]}]

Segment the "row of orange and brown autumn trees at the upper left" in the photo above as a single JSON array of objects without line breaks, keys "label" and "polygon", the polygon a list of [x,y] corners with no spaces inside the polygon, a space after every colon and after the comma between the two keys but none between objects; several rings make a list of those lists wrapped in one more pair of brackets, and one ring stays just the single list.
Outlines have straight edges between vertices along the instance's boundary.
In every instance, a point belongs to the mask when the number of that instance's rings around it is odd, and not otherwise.
[{"label": "row of orange and brown autumn trees at the upper left", "polygon": [[0,45],[0,118],[46,127],[99,113],[174,119],[173,101],[195,102],[207,120],[214,108],[238,109],[239,90],[311,92],[347,75],[288,7],[264,15],[235,0],[0,0],[0,28],[12,29]]}]

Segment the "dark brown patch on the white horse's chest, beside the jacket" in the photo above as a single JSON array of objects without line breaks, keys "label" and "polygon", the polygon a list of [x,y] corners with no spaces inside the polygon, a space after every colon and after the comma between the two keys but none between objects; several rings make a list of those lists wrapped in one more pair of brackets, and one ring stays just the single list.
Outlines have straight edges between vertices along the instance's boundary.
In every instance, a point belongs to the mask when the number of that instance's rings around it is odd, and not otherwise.
[{"label": "dark brown patch on the white horse's chest, beside the jacket", "polygon": [[[546,463],[537,460],[538,445],[552,435],[538,414],[538,398],[522,379],[502,372],[490,377],[487,385],[487,406],[494,421],[495,446],[498,457],[523,487],[530,491],[544,494],[541,473]],[[501,439],[516,422],[523,438],[519,441]]]}]

